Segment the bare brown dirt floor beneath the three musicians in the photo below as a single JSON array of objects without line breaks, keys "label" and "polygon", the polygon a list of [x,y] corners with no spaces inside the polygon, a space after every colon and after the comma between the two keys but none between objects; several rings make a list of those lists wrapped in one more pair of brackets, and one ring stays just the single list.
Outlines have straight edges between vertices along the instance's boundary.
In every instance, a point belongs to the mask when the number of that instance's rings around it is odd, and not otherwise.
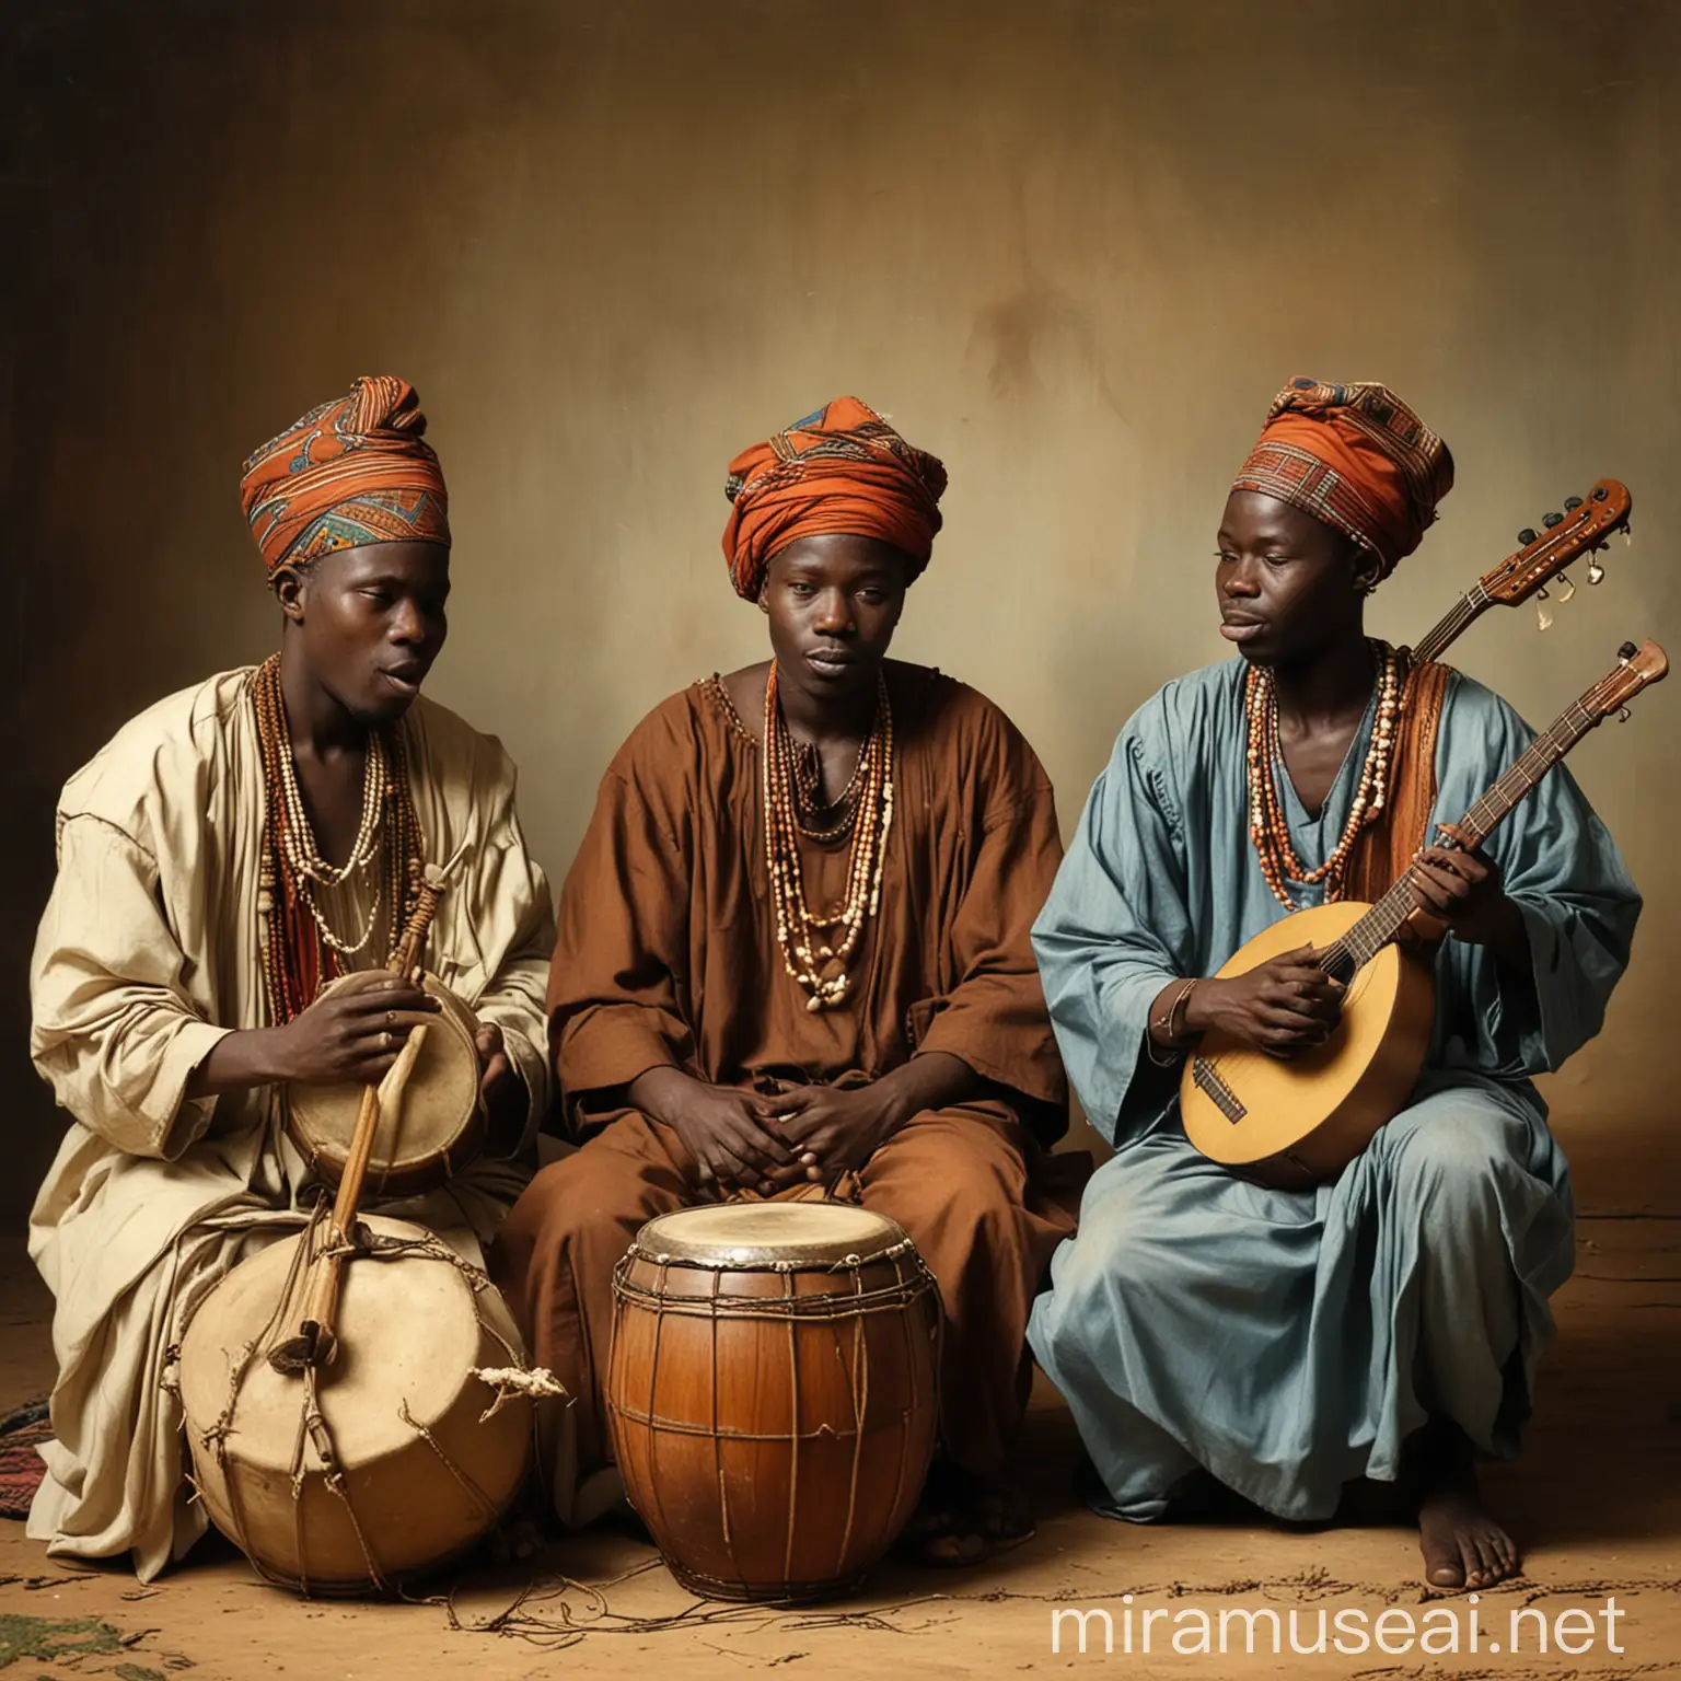
[{"label": "bare brown dirt floor beneath the three musicians", "polygon": [[[1681,1219],[1585,1217],[1578,1274],[1557,1306],[1560,1335],[1530,1451],[1488,1476],[1496,1510],[1528,1550],[1526,1575],[1476,1607],[1422,1590],[1415,1543],[1399,1526],[1281,1533],[1131,1528],[1091,1516],[1071,1491],[1078,1442],[1067,1410],[1041,1385],[1020,1449],[1039,1535],[982,1570],[883,1568],[866,1597],[810,1612],[698,1607],[647,1547],[595,1533],[551,1550],[550,1573],[513,1617],[519,1584],[491,1567],[469,1573],[457,1584],[452,1626],[442,1600],[301,1602],[259,1585],[217,1543],[143,1589],[126,1568],[50,1563],[22,1523],[0,1521],[0,1671],[7,1681],[165,1681],[177,1673],[190,1681],[501,1681],[657,1669],[691,1681],[778,1666],[807,1676],[1681,1674]],[[50,1370],[45,1291],[20,1251],[7,1249],[0,1410],[42,1394]],[[1513,1652],[1511,1615],[1525,1607]],[[1083,1624],[1057,1617],[1059,1609],[1106,1610],[1113,1652],[1103,1619],[1088,1617],[1081,1656]],[[1269,1610],[1279,1614],[1278,1656]],[[1299,1644],[1318,1644],[1321,1610],[1328,1641],[1340,1639],[1343,1651],[1293,1654],[1293,1627]],[[1146,1654],[1148,1612],[1157,1615]],[[568,1620],[580,1632],[568,1634]]]}]

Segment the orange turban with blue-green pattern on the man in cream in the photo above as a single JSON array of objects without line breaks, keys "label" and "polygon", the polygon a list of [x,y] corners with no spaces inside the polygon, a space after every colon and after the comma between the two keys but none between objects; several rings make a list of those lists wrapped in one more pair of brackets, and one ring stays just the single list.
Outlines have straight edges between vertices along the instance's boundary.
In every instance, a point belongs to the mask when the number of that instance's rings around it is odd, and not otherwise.
[{"label": "orange turban with blue-green pattern on the man in cream", "polygon": [[363,543],[447,548],[449,496],[424,432],[414,387],[378,373],[264,444],[239,493],[269,573]]}]

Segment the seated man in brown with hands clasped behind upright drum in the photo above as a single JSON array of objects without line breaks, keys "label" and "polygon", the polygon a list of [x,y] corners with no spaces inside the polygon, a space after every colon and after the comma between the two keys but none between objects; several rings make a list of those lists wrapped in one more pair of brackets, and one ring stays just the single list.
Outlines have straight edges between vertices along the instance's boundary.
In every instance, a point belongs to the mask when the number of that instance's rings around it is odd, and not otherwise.
[{"label": "seated man in brown with hands clasped behind upright drum", "polygon": [[1004,1473],[1027,1309],[1067,1230],[1029,1187],[1066,1123],[1029,948],[1061,846],[1010,721],[886,659],[943,489],[852,398],[731,462],[725,555],[775,657],[637,726],[566,877],[550,1042],[583,1145],[493,1256],[533,1360],[573,1395],[551,1444],[566,1521],[617,1494],[598,1385],[637,1227],[812,1177],[896,1219],[941,1286],[925,1555],[1030,1531]]}]

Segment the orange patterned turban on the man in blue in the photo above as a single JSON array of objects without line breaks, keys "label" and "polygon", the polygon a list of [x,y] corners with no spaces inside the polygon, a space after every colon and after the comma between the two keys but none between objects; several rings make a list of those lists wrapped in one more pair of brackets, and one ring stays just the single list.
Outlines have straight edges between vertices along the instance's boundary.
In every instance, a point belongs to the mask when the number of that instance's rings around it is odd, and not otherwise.
[{"label": "orange patterned turban on the man in blue", "polygon": [[1387,387],[1291,380],[1232,481],[1301,508],[1377,555],[1410,555],[1454,487],[1447,445]]}]

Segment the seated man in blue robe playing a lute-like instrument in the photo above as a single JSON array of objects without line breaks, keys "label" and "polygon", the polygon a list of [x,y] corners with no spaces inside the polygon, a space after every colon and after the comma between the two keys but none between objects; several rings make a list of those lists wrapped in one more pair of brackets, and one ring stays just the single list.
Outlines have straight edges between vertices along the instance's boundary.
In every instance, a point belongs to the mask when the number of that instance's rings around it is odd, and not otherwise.
[{"label": "seated man in blue robe playing a lute-like instrument", "polygon": [[[1568,1168],[1530,1076],[1599,1030],[1639,898],[1563,770],[1484,851],[1425,844],[1531,740],[1488,689],[1441,666],[1407,677],[1362,627],[1451,482],[1389,392],[1315,380],[1286,387],[1237,476],[1215,593],[1242,659],[1126,725],[1034,930],[1069,1074],[1116,1155],[1030,1341],[1099,1511],[1160,1516],[1212,1473],[1326,1520],[1350,1479],[1405,1469],[1431,1584],[1483,1587],[1516,1550],[1473,1451],[1516,1452],[1572,1264]],[[1197,1035],[1288,1057],[1330,1034],[1340,988],[1309,950],[1197,977],[1286,911],[1375,899],[1420,847],[1415,921],[1451,938],[1410,1106],[1318,1190],[1205,1160],[1178,1113]]]}]

